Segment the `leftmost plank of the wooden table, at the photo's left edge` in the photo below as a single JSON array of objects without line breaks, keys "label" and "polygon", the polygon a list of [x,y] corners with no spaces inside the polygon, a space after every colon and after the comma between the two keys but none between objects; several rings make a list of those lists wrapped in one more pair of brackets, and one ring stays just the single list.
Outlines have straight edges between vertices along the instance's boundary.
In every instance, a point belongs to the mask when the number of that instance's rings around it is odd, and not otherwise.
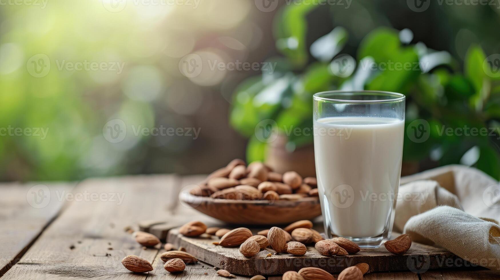
[{"label": "leftmost plank of the wooden table, at the photo's left edge", "polygon": [[0,184],[0,276],[15,264],[63,205],[75,183]]}]

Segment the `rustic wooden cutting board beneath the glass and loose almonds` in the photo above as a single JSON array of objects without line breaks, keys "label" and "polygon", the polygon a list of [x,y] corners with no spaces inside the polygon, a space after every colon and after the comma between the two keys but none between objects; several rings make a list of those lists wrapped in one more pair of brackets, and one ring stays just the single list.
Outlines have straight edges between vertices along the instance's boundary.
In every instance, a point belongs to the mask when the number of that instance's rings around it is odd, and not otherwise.
[{"label": "rustic wooden cutting board beneath the glass and loose almonds", "polygon": [[[250,228],[251,229],[251,228]],[[254,234],[259,229],[251,229]],[[451,252],[413,242],[411,248],[402,255],[388,252],[382,245],[380,248],[362,249],[360,252],[348,256],[323,256],[313,245],[307,246],[307,253],[303,256],[294,256],[289,253],[280,253],[267,256],[266,250],[261,250],[251,258],[239,253],[238,247],[224,248],[213,245],[218,241],[216,236],[186,237],[174,228],[168,231],[167,241],[177,247],[184,247],[187,252],[197,259],[213,266],[241,275],[277,275],[288,270],[298,271],[302,267],[320,267],[330,273],[338,273],[345,267],[365,262],[372,271],[411,270],[422,272],[429,268],[455,267],[463,265],[463,260]],[[397,235],[394,235],[397,236]]]}]

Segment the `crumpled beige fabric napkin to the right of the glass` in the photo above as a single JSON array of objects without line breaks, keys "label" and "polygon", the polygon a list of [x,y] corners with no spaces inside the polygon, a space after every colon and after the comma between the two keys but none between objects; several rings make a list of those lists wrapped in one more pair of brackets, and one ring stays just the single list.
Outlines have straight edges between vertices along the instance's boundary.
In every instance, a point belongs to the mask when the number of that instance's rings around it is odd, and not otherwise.
[{"label": "crumpled beige fabric napkin to the right of the glass", "polygon": [[500,270],[498,181],[475,168],[448,165],[403,177],[401,182],[408,183],[398,190],[394,230]]}]

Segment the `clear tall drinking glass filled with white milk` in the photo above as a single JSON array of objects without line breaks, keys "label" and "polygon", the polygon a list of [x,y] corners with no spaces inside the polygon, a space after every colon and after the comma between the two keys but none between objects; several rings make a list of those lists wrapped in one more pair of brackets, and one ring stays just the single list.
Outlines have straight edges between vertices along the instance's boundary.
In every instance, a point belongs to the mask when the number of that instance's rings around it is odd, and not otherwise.
[{"label": "clear tall drinking glass filled with white milk", "polygon": [[401,93],[368,90],[313,95],[317,187],[328,238],[378,247],[390,237],[404,99]]}]

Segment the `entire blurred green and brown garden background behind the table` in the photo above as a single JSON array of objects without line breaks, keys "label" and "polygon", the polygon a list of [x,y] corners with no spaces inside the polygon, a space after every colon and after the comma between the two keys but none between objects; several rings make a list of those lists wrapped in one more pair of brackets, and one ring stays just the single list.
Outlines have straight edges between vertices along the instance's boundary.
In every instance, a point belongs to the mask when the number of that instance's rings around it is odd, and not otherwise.
[{"label": "entire blurred green and brown garden background behind the table", "polygon": [[[475,3],[475,4],[472,4]],[[312,97],[407,96],[403,173],[500,178],[500,3],[1,0],[0,180],[313,172]],[[297,132],[290,132],[295,129]]]}]

